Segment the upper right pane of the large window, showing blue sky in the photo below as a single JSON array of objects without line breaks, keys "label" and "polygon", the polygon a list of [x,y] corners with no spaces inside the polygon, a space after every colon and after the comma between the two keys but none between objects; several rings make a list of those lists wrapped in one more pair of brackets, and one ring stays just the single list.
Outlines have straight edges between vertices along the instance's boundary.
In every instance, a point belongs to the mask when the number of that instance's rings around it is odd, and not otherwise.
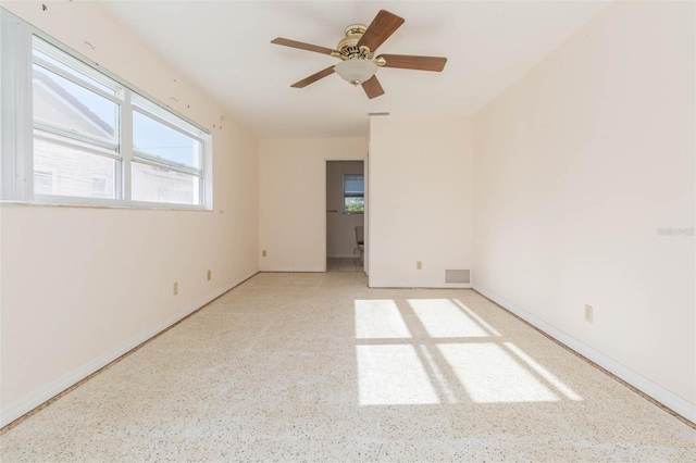
[{"label": "upper right pane of the large window, showing blue sky", "polygon": [[133,146],[156,159],[201,168],[198,140],[137,111],[133,112]]}]

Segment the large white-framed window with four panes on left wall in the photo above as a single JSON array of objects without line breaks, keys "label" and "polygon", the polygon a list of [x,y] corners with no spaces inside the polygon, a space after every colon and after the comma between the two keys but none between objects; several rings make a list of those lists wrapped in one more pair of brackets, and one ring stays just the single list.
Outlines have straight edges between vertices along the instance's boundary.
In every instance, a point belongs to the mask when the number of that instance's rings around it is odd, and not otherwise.
[{"label": "large white-framed window with four panes on left wall", "polygon": [[[0,15],[9,24],[8,13]],[[18,46],[3,47],[0,57],[13,64],[3,66],[2,78],[18,83],[8,98],[15,116],[3,114],[2,128],[12,136],[3,140],[2,179],[12,187],[3,188],[1,199],[212,205],[206,195],[212,179],[206,129],[23,26],[13,37]],[[24,145],[8,145],[23,139]]]}]

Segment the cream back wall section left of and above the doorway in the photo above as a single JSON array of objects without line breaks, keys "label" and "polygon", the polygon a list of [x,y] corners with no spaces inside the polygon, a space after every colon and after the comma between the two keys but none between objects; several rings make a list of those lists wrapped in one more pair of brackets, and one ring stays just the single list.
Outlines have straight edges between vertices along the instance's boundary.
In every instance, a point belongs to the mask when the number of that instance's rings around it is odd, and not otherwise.
[{"label": "cream back wall section left of and above the doorway", "polygon": [[325,271],[326,160],[363,160],[366,153],[362,138],[260,140],[262,271]]}]

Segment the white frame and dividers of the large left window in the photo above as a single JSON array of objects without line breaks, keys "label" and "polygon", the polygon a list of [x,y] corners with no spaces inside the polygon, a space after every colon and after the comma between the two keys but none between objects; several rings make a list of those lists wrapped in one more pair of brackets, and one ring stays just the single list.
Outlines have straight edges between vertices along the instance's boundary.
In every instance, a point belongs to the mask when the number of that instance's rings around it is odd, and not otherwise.
[{"label": "white frame and dividers of the large left window", "polygon": [[[13,65],[2,66],[0,70],[0,82],[20,82],[17,96],[13,98],[13,107],[10,114],[1,117],[1,128],[12,135],[2,138],[12,138],[2,141],[2,158],[0,158],[0,177],[5,183],[5,187],[0,191],[0,201],[28,202],[36,204],[61,204],[61,205],[99,205],[112,208],[136,208],[136,209],[172,209],[172,210],[203,210],[213,209],[212,196],[212,134],[200,124],[189,120],[172,108],[161,103],[147,92],[128,84],[119,76],[104,70],[96,62],[76,52],[72,48],[58,41],[48,34],[37,29],[22,18],[0,8],[0,21],[3,26],[3,39],[10,37],[13,43],[8,43],[0,49],[0,59]],[[12,29],[12,30],[9,30]],[[28,41],[28,43],[27,43]],[[18,47],[17,47],[18,45]],[[15,49],[20,49],[15,51]],[[47,61],[41,55],[36,55],[34,50],[55,60],[61,66],[70,68],[72,72]],[[7,60],[7,61],[5,61]],[[114,118],[113,140],[92,137],[92,134],[82,134],[77,130],[62,127],[59,124],[51,124],[34,118],[34,80],[33,66],[37,65],[53,73],[61,78],[83,87],[101,98],[113,102],[116,105],[117,114]],[[18,71],[8,71],[8,68],[18,68]],[[76,74],[76,75],[75,75]],[[9,78],[7,78],[9,76]],[[80,78],[80,76],[84,76]],[[91,79],[97,85],[113,90],[113,95],[103,88],[86,80]],[[2,99],[4,100],[10,89],[8,85],[2,87]],[[10,100],[10,98],[8,98]],[[17,108],[18,107],[18,108]],[[4,109],[4,103],[3,103]],[[137,150],[133,146],[133,112],[137,111],[169,128],[183,134],[192,140],[196,147],[196,157],[200,164],[199,168],[179,164],[164,157],[148,157],[147,152]],[[21,121],[12,120],[15,114],[22,115]],[[35,192],[34,188],[34,140],[35,137],[54,136],[60,139],[46,140],[57,146],[63,145],[69,148],[79,147],[80,151],[90,155],[102,157],[114,161],[114,198],[97,198],[80,196],[59,196]],[[21,140],[20,143],[15,139]],[[75,145],[71,143],[74,142]],[[87,143],[87,145],[85,145]],[[71,146],[73,145],[73,146]],[[22,147],[25,149],[21,149]],[[113,150],[104,152],[89,147],[101,148],[102,150]],[[8,149],[10,148],[10,149]],[[198,203],[177,203],[160,201],[136,201],[132,198],[132,165],[133,162],[156,167],[192,175],[198,177],[198,188],[194,190],[194,199]],[[86,178],[86,177],[85,177]],[[8,182],[9,180],[9,182]],[[55,190],[55,185],[53,185]]]}]

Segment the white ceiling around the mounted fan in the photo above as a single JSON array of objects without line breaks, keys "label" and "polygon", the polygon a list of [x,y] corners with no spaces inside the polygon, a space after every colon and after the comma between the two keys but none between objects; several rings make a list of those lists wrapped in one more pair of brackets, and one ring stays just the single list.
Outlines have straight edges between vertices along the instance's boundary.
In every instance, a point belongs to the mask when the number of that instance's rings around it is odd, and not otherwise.
[{"label": "white ceiling around the mounted fan", "polygon": [[[592,16],[598,1],[109,1],[99,4],[216,98],[259,137],[365,136],[369,112],[472,115]],[[290,85],[337,60],[272,45],[335,48],[349,24],[385,9],[406,23],[382,53],[447,57],[443,73],[382,68],[369,100],[331,75]]]}]

